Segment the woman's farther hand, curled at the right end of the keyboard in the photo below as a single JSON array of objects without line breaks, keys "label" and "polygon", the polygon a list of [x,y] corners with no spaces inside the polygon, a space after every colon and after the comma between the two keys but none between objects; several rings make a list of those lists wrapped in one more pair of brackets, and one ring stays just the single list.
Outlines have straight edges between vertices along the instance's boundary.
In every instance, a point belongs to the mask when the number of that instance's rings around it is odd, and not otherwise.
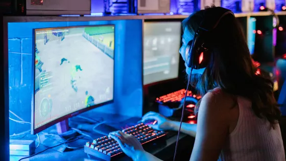
[{"label": "woman's farther hand, curled at the right end of the keyboard", "polygon": [[142,117],[142,122],[145,122],[146,120],[156,120],[157,123],[155,125],[150,124],[149,126],[152,127],[155,130],[170,130],[172,127],[172,121],[165,118],[159,113],[156,112],[148,112]]}]

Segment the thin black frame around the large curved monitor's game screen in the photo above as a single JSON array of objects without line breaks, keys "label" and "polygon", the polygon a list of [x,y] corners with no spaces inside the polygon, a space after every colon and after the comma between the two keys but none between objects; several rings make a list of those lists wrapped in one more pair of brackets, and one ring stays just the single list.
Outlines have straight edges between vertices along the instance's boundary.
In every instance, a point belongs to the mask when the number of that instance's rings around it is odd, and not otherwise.
[{"label": "thin black frame around the large curved monitor's game screen", "polygon": [[114,27],[114,45],[115,45],[115,39],[116,39],[116,34],[115,34],[115,24],[106,24],[106,25],[85,25],[85,26],[67,26],[67,27],[55,27],[55,28],[38,28],[38,29],[33,29],[33,34],[32,34],[32,84],[33,84],[33,91],[32,91],[32,103],[31,103],[31,134],[36,134],[39,133],[53,125],[56,125],[59,122],[62,122],[64,120],[67,120],[71,117],[77,116],[78,114],[81,114],[83,112],[92,110],[94,108],[111,104],[114,103],[114,85],[115,85],[115,48],[114,48],[114,56],[113,56],[113,99],[110,101],[106,101],[100,104],[93,105],[88,108],[83,108],[74,112],[71,112],[69,114],[66,114],[65,116],[62,116],[58,119],[55,119],[49,123],[46,123],[38,128],[35,129],[35,44],[36,44],[36,31],[42,31],[42,30],[54,30],[54,29],[70,29],[70,28],[85,28],[85,27],[100,27],[100,26],[112,26]]}]

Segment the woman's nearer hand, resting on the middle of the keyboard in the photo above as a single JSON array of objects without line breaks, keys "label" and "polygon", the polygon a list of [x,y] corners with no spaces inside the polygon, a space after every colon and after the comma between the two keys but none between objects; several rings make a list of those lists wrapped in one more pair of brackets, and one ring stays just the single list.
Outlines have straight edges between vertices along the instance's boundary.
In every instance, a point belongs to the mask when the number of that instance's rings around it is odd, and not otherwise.
[{"label": "woman's nearer hand, resting on the middle of the keyboard", "polygon": [[109,133],[108,137],[117,141],[122,151],[133,160],[138,153],[144,152],[141,143],[133,135],[123,133],[122,131],[114,131]]}]

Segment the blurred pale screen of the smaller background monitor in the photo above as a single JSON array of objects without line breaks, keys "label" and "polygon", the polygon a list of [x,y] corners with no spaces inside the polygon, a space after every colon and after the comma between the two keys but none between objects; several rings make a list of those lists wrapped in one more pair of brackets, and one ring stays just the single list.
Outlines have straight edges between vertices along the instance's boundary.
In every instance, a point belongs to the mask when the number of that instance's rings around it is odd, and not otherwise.
[{"label": "blurred pale screen of the smaller background monitor", "polygon": [[144,23],[144,85],[179,74],[181,21]]}]

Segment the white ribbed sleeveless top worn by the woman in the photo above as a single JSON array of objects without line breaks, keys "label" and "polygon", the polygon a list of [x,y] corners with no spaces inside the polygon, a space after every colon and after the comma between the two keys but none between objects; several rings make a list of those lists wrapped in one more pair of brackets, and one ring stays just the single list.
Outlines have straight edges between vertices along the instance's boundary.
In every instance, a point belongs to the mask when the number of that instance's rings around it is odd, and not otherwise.
[{"label": "white ribbed sleeveless top worn by the woman", "polygon": [[268,120],[258,118],[251,102],[237,98],[240,116],[220,154],[220,161],[285,161],[279,124],[271,128]]}]

